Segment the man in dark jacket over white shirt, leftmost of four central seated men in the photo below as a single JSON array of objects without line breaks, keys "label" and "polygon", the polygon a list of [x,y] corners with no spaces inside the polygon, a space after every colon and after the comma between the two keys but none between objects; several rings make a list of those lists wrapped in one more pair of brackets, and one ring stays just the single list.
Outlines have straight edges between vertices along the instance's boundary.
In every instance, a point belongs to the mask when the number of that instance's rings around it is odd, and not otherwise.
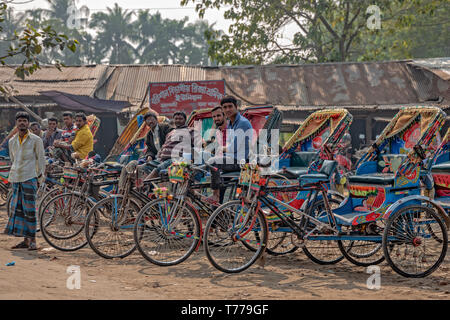
[{"label": "man in dark jacket over white shirt, leftmost of four central seated men", "polygon": [[145,139],[147,146],[145,158],[148,162],[156,159],[156,155],[164,145],[164,142],[166,142],[167,134],[171,131],[171,128],[164,123],[158,124],[158,118],[154,112],[146,113],[144,115],[144,121],[150,127],[150,131],[147,133]]}]

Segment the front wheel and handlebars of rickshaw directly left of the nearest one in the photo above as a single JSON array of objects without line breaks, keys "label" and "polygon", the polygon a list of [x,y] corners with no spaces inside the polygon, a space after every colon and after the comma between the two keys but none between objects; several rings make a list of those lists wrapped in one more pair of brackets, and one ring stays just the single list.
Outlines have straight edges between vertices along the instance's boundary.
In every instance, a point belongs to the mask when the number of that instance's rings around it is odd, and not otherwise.
[{"label": "front wheel and handlebars of rickshaw directly left of the nearest one", "polygon": [[[149,262],[159,266],[172,266],[185,261],[198,250],[202,237],[202,217],[209,217],[214,206],[206,202],[206,196],[197,190],[209,184],[196,183],[198,173],[209,165],[192,166],[183,163],[172,165],[173,193],[157,188],[157,199],[145,205],[134,225],[134,240],[138,251]],[[229,180],[225,187],[236,187],[236,180]],[[234,192],[231,191],[230,195]]]}]

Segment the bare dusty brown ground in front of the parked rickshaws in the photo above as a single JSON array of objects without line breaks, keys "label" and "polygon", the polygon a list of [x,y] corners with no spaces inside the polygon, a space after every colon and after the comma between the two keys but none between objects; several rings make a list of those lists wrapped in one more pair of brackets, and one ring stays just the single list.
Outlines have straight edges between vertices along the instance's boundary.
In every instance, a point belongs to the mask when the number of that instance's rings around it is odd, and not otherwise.
[{"label": "bare dusty brown ground in front of the parked rickshaws", "polygon": [[[0,211],[0,228],[6,223]],[[381,265],[381,289],[369,290],[365,268],[343,261],[311,262],[301,251],[266,259],[241,274],[214,269],[200,250],[181,265],[158,267],[138,252],[105,260],[90,248],[76,252],[11,251],[19,238],[0,234],[0,299],[450,299],[450,256],[425,279],[406,279]],[[6,263],[15,261],[15,266]],[[67,267],[81,268],[81,288],[69,290]]]}]

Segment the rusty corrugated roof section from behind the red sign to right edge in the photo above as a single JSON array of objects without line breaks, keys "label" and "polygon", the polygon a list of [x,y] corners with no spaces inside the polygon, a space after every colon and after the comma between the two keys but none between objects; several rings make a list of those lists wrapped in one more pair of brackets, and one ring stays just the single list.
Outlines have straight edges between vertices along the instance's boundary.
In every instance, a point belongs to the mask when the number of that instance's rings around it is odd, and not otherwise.
[{"label": "rusty corrugated roof section from behind the red sign to right edge", "polygon": [[96,95],[141,101],[149,82],[225,79],[228,93],[245,104],[347,106],[450,101],[448,81],[411,61],[196,67],[114,66]]}]

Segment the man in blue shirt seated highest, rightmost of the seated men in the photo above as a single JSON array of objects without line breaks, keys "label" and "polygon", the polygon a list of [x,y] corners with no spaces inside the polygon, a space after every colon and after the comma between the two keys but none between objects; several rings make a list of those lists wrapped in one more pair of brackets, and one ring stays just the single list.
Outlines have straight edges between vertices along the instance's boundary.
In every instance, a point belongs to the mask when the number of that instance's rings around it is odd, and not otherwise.
[{"label": "man in blue shirt seated highest, rightmost of the seated men", "polygon": [[227,143],[223,152],[216,153],[207,163],[216,168],[211,170],[211,189],[213,195],[207,198],[211,204],[220,202],[220,186],[222,172],[239,171],[239,163],[242,160],[248,162],[250,143],[253,137],[253,127],[238,111],[238,102],[233,96],[226,96],[220,101],[222,110],[228,119]]}]

